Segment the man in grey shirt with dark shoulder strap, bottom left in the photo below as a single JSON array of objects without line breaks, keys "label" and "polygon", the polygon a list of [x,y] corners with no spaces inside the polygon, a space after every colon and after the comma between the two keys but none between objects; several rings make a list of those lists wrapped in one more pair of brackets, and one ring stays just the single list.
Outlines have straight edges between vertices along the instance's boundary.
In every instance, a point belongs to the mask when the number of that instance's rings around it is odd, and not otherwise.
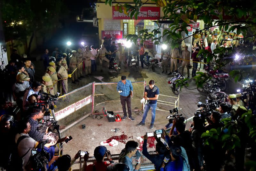
[{"label": "man in grey shirt with dark shoulder strap, bottom left", "polygon": [[39,144],[34,139],[29,137],[28,132],[30,131],[30,124],[28,120],[21,120],[18,122],[17,130],[18,133],[15,136],[15,143],[18,147],[18,154],[22,159],[23,169],[28,164],[29,157],[31,156],[31,150],[36,148]]}]

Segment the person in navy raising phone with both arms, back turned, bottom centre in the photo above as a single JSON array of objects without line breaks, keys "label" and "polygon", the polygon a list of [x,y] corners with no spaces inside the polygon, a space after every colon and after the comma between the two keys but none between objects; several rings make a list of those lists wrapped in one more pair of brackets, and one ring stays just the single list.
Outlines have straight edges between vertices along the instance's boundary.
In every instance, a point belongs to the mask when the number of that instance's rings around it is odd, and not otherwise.
[{"label": "person in navy raising phone with both arms, back turned, bottom centre", "polygon": [[142,145],[142,154],[148,158],[156,167],[156,170],[160,170],[161,164],[164,161],[164,152],[166,150],[166,147],[162,143],[160,139],[158,139],[155,136],[155,139],[157,141],[156,143],[156,154],[149,154],[147,149],[147,141],[148,141],[148,135],[144,135],[144,142]]}]

